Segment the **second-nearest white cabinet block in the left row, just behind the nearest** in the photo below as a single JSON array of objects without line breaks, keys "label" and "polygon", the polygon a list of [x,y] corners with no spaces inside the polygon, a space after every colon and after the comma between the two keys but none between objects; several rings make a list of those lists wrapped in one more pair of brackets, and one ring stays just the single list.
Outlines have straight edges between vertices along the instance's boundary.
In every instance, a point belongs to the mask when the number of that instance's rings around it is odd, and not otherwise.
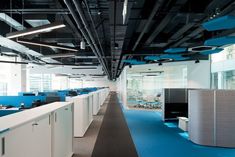
[{"label": "second-nearest white cabinet block in the left row, just behind the nearest", "polygon": [[74,137],[83,137],[93,120],[89,97],[89,94],[66,97],[66,101],[74,103]]}]

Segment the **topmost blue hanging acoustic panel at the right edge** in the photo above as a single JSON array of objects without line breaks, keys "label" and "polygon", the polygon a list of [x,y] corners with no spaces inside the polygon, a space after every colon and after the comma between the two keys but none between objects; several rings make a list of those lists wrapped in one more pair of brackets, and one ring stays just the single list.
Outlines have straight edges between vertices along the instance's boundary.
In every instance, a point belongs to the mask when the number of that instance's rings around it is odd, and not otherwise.
[{"label": "topmost blue hanging acoustic panel at the right edge", "polygon": [[215,18],[202,24],[207,31],[216,31],[224,29],[232,29],[235,27],[235,16],[227,15]]}]

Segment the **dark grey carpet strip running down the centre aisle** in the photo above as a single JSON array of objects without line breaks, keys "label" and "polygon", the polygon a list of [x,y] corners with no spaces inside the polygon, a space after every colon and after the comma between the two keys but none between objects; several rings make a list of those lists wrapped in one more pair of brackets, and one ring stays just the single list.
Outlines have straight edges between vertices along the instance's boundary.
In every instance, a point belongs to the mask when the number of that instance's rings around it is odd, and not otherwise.
[{"label": "dark grey carpet strip running down the centre aisle", "polygon": [[92,157],[137,157],[116,93],[111,93]]}]

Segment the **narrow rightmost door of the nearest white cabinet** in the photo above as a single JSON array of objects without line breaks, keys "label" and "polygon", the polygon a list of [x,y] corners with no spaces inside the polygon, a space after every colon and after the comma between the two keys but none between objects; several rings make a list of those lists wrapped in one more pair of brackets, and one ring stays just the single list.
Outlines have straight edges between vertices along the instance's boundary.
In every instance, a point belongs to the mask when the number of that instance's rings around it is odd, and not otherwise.
[{"label": "narrow rightmost door of the nearest white cabinet", "polygon": [[58,109],[53,113],[53,157],[71,157],[72,152],[72,107]]}]

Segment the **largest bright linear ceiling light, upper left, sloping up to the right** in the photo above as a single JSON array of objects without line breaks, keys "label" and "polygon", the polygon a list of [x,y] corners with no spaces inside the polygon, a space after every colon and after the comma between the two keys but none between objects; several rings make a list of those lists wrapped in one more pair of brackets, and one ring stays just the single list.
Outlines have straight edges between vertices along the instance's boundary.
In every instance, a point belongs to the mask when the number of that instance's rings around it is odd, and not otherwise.
[{"label": "largest bright linear ceiling light, upper left, sloping up to the right", "polygon": [[59,23],[59,22],[54,22],[51,24],[33,27],[33,28],[22,30],[22,31],[8,33],[8,34],[6,34],[6,38],[8,38],[8,39],[18,38],[18,37],[27,36],[27,35],[48,32],[48,31],[52,31],[54,29],[59,29],[59,28],[63,28],[63,27],[65,27],[65,24]]}]

